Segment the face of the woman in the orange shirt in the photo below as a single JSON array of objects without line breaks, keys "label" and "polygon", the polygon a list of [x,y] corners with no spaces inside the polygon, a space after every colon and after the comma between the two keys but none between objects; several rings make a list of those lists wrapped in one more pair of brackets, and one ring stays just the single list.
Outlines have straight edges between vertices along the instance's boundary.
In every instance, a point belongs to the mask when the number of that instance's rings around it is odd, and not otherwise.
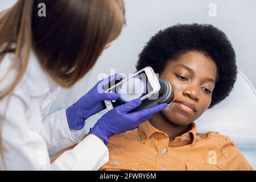
[{"label": "face of the woman in the orange shirt", "polygon": [[216,64],[203,53],[189,51],[169,61],[160,78],[171,83],[174,100],[161,113],[174,125],[189,125],[208,109],[216,77]]}]

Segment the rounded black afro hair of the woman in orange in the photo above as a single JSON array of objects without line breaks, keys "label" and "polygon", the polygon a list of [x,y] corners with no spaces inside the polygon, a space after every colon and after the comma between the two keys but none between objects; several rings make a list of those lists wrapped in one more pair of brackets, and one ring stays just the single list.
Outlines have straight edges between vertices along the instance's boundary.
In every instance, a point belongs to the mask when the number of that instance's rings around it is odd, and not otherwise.
[{"label": "rounded black afro hair of the woman in orange", "polygon": [[146,43],[136,65],[137,71],[152,67],[161,74],[168,61],[188,51],[209,56],[217,66],[215,88],[209,108],[229,96],[237,78],[236,53],[228,38],[210,24],[176,24],[159,31]]}]

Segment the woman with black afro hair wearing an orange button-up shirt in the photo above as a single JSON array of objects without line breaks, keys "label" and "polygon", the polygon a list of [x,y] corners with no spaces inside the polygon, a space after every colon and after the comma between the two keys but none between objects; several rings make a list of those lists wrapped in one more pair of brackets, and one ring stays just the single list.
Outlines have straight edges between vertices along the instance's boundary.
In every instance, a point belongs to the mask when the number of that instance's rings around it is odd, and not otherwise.
[{"label": "woman with black afro hair wearing an orange button-up shirt", "polygon": [[236,55],[222,31],[207,24],[159,31],[139,55],[137,70],[147,66],[171,82],[174,100],[137,129],[110,137],[101,170],[252,170],[229,137],[196,133],[194,121],[236,81]]}]

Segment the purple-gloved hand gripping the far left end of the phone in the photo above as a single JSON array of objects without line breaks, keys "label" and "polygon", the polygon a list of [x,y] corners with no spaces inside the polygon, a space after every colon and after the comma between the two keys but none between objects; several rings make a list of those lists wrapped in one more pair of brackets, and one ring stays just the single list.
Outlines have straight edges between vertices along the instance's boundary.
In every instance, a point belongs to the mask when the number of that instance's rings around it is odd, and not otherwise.
[{"label": "purple-gloved hand gripping the far left end of the phone", "polygon": [[110,81],[122,80],[123,76],[115,74],[99,81],[88,93],[82,96],[75,104],[66,110],[68,126],[73,130],[81,130],[85,120],[105,109],[104,100],[117,100],[118,93],[104,92],[105,85]]}]

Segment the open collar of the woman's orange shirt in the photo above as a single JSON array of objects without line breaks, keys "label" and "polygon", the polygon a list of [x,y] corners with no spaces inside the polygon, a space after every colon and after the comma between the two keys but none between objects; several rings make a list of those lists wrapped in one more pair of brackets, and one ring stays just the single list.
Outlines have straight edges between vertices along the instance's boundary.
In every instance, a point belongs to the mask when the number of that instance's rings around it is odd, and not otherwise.
[{"label": "open collar of the woman's orange shirt", "polygon": [[[141,135],[142,143],[145,143],[154,133],[160,133],[165,137],[168,137],[166,133],[152,126],[149,121],[143,122],[141,125],[139,125],[138,130],[139,130],[139,134]],[[170,143],[170,145],[177,147],[177,146],[183,146],[188,143],[191,144],[191,146],[194,146],[196,143],[196,124],[195,123],[192,123],[191,130],[189,130],[187,133],[184,133],[179,137],[176,137],[174,141]]]}]

